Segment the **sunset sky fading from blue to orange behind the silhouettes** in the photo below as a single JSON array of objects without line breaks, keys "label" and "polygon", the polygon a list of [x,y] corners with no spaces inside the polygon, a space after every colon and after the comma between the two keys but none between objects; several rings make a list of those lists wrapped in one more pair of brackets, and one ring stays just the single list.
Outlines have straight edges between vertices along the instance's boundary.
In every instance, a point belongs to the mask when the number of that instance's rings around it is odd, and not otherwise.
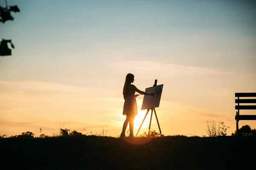
[{"label": "sunset sky fading from blue to orange behind the silhouettes", "polygon": [[[207,121],[236,130],[236,92],[256,92],[253,0],[7,0],[0,23],[0,134],[60,128],[118,136],[122,89],[163,84],[155,108],[164,135],[203,136]],[[5,7],[5,0],[0,0]],[[146,110],[137,97],[137,133]],[[240,111],[250,114],[252,111]],[[255,113],[255,112],[254,112]],[[148,132],[150,116],[139,134]],[[239,121],[239,128],[256,121]],[[128,129],[128,128],[127,128]],[[151,130],[159,132],[155,117]]]}]

